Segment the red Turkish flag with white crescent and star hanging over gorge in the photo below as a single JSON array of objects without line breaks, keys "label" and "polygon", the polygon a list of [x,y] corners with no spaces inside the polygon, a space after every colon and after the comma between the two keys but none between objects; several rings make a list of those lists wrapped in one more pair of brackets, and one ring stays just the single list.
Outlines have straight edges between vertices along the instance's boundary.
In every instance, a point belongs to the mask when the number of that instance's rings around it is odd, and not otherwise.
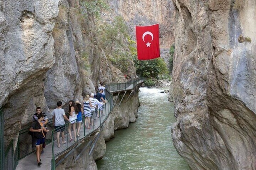
[{"label": "red Turkish flag with white crescent and star hanging over gorge", "polygon": [[160,57],[159,24],[136,26],[136,40],[139,60]]}]

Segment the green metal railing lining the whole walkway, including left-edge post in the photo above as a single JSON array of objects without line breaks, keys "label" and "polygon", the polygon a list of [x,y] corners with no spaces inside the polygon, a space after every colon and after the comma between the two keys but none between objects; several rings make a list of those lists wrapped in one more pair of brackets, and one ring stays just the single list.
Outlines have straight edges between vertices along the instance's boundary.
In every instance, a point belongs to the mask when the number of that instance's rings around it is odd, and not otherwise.
[{"label": "green metal railing lining the whole walkway, including left-edge post", "polygon": [[[107,103],[102,106],[100,109],[97,110],[97,112],[100,113],[100,110],[102,109],[102,113],[104,116],[99,114],[99,118],[96,118],[96,121],[94,122],[95,125],[92,126],[92,128],[89,130],[85,128],[84,126],[84,116],[82,117],[82,123],[81,123],[81,132],[80,138],[78,138],[78,141],[74,141],[74,138],[72,141],[69,141],[69,135],[68,135],[68,126],[69,123],[66,123],[64,127],[61,129],[54,129],[52,124],[52,119],[48,120],[47,128],[53,129],[46,135],[46,144],[49,144],[52,142],[52,152],[53,152],[53,159],[51,160],[52,169],[55,169],[56,167],[56,158],[58,158],[59,155],[63,153],[63,151],[67,151],[69,148],[72,148],[72,146],[75,146],[78,142],[80,142],[84,137],[89,136],[94,132],[95,129],[101,127],[104,123],[104,121],[107,119],[109,113],[113,109],[113,95],[111,93],[113,92],[119,92],[124,90],[131,90],[136,87],[139,83],[142,83],[145,80],[145,78],[140,79],[133,79],[126,83],[112,83],[106,85],[105,95],[107,100]],[[95,115],[93,115],[92,120],[94,120]],[[14,170],[17,166],[18,160],[24,158],[25,156],[33,153],[35,151],[35,148],[32,148],[32,137],[28,134],[29,128],[24,128],[20,130],[19,132],[19,138],[17,142],[17,148],[14,152],[13,147],[13,140],[10,142],[9,146],[5,150],[5,152],[1,152],[0,155],[0,169],[5,170]],[[58,130],[64,130],[64,137],[66,144],[61,145],[60,148],[57,147],[56,144],[56,131]],[[73,131],[72,131],[73,134]],[[73,136],[73,135],[72,135]],[[60,141],[61,135],[60,135]],[[4,115],[3,115],[3,109],[0,108],[0,149],[4,151]],[[60,162],[58,162],[59,164]]]}]

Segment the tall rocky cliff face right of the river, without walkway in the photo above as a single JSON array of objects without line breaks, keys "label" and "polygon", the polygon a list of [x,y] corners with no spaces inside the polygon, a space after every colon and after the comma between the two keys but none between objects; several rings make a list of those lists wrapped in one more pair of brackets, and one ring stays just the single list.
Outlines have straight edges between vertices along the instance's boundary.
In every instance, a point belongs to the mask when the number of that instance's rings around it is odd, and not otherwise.
[{"label": "tall rocky cliff face right of the river, without walkway", "polygon": [[256,1],[173,2],[174,146],[192,169],[256,169]]}]

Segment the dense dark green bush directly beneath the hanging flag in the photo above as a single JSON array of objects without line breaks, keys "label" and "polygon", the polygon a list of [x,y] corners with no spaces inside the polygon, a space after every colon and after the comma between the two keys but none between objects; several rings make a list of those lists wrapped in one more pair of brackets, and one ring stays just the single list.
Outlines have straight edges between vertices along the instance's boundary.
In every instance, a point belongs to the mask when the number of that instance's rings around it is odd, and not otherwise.
[{"label": "dense dark green bush directly beneath the hanging flag", "polygon": [[152,60],[138,60],[137,56],[133,56],[135,63],[136,73],[149,78],[157,78],[158,75],[167,74],[167,66],[162,58],[156,58]]}]

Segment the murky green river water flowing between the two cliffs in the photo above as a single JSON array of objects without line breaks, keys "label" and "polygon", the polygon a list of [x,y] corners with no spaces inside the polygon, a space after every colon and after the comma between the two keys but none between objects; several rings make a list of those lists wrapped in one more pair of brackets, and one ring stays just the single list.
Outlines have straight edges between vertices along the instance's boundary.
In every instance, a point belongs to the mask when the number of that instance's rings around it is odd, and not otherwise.
[{"label": "murky green river water flowing between the two cliffs", "polygon": [[168,94],[160,93],[165,89],[140,88],[138,118],[128,128],[115,131],[103,159],[96,162],[99,170],[189,170],[172,144],[175,118]]}]

